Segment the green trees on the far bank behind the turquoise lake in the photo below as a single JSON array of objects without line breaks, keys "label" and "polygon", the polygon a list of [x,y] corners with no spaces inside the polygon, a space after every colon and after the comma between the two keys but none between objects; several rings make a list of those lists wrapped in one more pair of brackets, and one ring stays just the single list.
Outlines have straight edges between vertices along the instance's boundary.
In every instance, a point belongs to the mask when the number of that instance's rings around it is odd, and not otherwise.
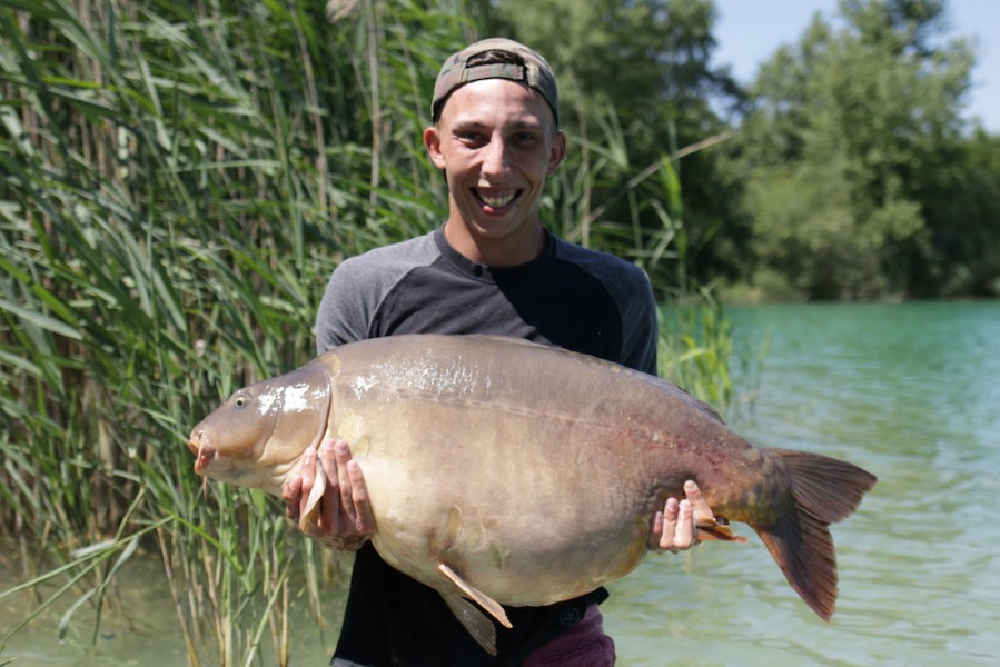
[{"label": "green trees on the far bank behind the turquoise lake", "polygon": [[675,252],[651,267],[662,290],[1000,293],[1000,137],[962,121],[974,51],[943,0],[842,0],[745,88],[712,63],[711,0],[503,0],[491,17],[554,61],[567,129],[600,141],[613,122],[632,165],[730,137],[675,163],[680,203],[654,179],[602,210],[673,226]]}]

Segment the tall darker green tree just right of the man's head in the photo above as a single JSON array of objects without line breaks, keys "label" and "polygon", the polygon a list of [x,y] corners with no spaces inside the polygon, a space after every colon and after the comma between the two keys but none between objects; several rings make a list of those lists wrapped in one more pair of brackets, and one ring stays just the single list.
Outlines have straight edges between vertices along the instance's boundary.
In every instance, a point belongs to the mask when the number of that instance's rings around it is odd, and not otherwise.
[{"label": "tall darker green tree just right of the man's head", "polygon": [[[737,181],[717,149],[669,156],[729,129],[709,100],[739,101],[725,69],[710,64],[715,48],[710,0],[499,0],[494,31],[537,46],[560,78],[571,153],[557,197],[574,199],[585,242],[630,253],[661,291],[686,290],[742,266],[735,249],[746,227],[735,208]],[[597,171],[582,191],[575,175]],[[683,192],[683,195],[681,195]],[[557,202],[558,203],[558,202]],[[581,221],[583,229],[574,226]],[[659,252],[671,240],[670,252]]]}]

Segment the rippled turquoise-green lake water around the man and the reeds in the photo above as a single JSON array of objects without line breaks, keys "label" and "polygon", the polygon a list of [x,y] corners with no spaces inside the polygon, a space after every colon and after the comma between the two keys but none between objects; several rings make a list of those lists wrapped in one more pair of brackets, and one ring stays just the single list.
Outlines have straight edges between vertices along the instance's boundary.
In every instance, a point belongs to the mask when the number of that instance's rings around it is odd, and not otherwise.
[{"label": "rippled turquoise-green lake water around the man and the reeds", "polygon": [[[729,315],[741,350],[770,341],[762,368],[737,372],[744,398],[755,398],[734,409],[731,425],[758,445],[849,459],[880,481],[833,528],[841,594],[832,623],[813,615],[752,530],[735,525],[749,544],[651,557],[610,586],[603,609],[618,664],[1000,664],[1000,302]],[[185,665],[158,577],[155,561],[131,570],[123,611],[107,615],[96,645],[86,623],[56,641],[53,611],[14,636],[0,664]],[[0,590],[9,585],[0,573]],[[331,599],[343,593],[330,585]],[[0,629],[14,605],[0,605]],[[303,610],[293,665],[326,664],[337,629],[338,605],[330,607],[325,637]],[[260,664],[274,664],[264,655]]]}]

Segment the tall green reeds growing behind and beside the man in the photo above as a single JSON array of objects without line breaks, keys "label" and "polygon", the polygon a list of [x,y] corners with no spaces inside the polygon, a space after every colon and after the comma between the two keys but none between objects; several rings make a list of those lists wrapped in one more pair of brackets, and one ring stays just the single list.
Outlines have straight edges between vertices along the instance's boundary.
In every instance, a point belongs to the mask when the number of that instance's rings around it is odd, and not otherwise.
[{"label": "tall green reeds growing behind and beside the man", "polygon": [[[274,499],[202,485],[185,442],[220,397],[313,356],[344,257],[444,219],[418,137],[438,63],[479,30],[468,16],[459,0],[0,1],[0,536],[24,573],[0,598],[29,609],[0,625],[0,664],[53,600],[75,600],[66,624],[99,611],[137,554],[162,563],[191,665],[287,664],[289,600],[321,618],[329,560]],[[624,138],[575,140],[588,150],[545,203],[556,231],[647,266],[675,253],[680,218],[627,185]],[[669,182],[670,160],[656,172]],[[587,183],[617,181],[663,207],[659,236],[590,216]],[[664,348],[665,368],[724,352],[711,331]]]}]

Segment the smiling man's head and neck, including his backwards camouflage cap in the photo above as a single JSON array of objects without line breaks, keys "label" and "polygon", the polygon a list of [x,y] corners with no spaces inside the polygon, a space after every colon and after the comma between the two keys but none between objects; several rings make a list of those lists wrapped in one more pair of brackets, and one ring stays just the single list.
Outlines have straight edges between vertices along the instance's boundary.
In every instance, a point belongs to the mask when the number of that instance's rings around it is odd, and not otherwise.
[{"label": "smiling man's head and neck, including his backwards camouflage cap", "polygon": [[452,247],[485,265],[517,266],[542,252],[538,200],[566,138],[545,61],[519,44],[492,43],[507,50],[479,42],[445,63],[424,145],[448,180]]}]

